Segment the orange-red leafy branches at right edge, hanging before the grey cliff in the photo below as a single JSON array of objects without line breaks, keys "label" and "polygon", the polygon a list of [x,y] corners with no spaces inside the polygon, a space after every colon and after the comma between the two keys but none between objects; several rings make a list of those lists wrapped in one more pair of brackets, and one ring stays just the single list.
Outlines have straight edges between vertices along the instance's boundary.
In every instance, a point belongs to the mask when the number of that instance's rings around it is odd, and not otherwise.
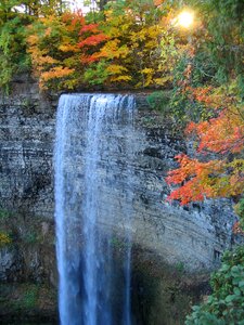
[{"label": "orange-red leafy branches at right edge, hanging before the grey cliff", "polygon": [[[168,173],[168,184],[180,187],[168,199],[178,199],[182,205],[204,197],[239,196],[244,188],[244,118],[237,96],[222,89],[188,88],[190,95],[210,108],[216,117],[205,121],[190,122],[188,136],[197,141],[197,158],[177,156],[179,168]],[[195,153],[196,154],[196,153]],[[211,156],[209,156],[211,154]],[[213,154],[216,159],[211,160]],[[204,161],[203,160],[204,157]]]}]

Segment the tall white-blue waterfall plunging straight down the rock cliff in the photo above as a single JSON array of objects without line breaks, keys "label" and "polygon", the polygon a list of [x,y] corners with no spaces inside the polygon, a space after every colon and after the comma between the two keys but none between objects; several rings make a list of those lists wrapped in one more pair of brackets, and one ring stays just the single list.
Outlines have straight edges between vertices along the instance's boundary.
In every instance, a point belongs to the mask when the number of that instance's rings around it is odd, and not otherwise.
[{"label": "tall white-blue waterfall plunging straight down the rock cliff", "polygon": [[132,95],[60,99],[54,168],[62,325],[132,324],[134,106]]}]

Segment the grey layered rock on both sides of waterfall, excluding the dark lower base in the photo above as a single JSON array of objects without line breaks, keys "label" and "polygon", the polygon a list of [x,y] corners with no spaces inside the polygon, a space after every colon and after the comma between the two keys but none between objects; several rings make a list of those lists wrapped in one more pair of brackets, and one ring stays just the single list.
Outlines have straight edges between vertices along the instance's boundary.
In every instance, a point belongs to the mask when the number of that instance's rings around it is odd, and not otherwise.
[{"label": "grey layered rock on both sides of waterfall, excluding the dark lower base", "polygon": [[[235,217],[231,205],[219,200],[182,208],[165,202],[169,188],[164,177],[175,166],[174,156],[187,147],[170,127],[158,122],[159,116],[150,110],[144,94],[136,94],[136,129],[141,145],[134,166],[133,243],[145,255],[157,256],[169,264],[181,263],[188,271],[213,269],[221,252],[233,244],[231,227]],[[37,84],[26,79],[15,80],[11,95],[2,95],[0,102],[0,208],[3,219],[4,213],[11,213],[8,221],[4,219],[3,230],[12,223],[13,242],[23,240],[31,220],[34,224],[39,220],[35,230],[37,237],[53,229],[55,108],[56,98],[39,94]],[[113,193],[107,195],[113,202]],[[15,223],[20,216],[22,223],[17,229]],[[123,226],[118,220],[118,236]],[[47,245],[54,260],[53,243],[47,243],[51,236],[42,237],[39,242],[42,250],[37,249],[27,263],[12,247],[1,248],[0,278],[21,278],[23,271],[15,271],[23,270],[23,265],[28,268],[28,274],[38,278],[41,273],[35,270],[47,268],[40,257]],[[31,266],[34,260],[39,265],[36,269]],[[52,282],[53,271],[49,269],[48,273],[47,278]],[[14,278],[13,274],[20,275]]]}]

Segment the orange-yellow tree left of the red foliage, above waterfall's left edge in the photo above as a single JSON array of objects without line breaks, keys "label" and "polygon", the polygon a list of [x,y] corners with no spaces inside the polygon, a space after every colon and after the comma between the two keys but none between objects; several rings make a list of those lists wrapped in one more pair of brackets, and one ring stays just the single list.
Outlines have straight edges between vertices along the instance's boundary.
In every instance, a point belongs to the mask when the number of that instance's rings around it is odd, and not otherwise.
[{"label": "orange-yellow tree left of the red foliage, above waterfall's left edge", "polygon": [[81,12],[65,12],[41,17],[29,27],[28,52],[41,89],[72,89],[77,84],[78,34],[84,24]]}]

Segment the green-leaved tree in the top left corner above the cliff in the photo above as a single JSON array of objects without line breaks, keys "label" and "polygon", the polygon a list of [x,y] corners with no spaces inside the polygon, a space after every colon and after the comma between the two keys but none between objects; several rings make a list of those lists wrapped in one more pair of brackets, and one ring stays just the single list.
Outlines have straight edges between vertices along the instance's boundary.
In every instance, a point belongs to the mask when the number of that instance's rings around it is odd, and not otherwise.
[{"label": "green-leaved tree in the top left corner above the cliff", "polygon": [[59,16],[65,5],[61,0],[0,1],[0,86],[9,91],[13,75],[30,69],[27,53],[28,25],[47,15]]}]

